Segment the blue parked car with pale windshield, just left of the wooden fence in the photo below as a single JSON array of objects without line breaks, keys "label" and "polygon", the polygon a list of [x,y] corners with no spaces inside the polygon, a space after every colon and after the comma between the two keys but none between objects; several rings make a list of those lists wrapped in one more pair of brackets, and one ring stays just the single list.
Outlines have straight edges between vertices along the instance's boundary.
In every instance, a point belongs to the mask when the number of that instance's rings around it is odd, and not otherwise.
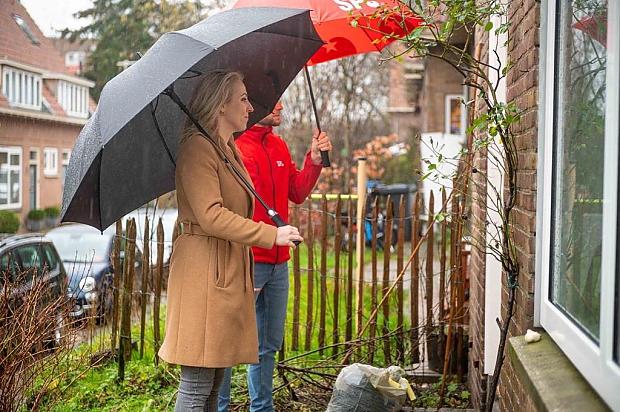
[{"label": "blue parked car with pale windshield, just left of the wooden fence", "polygon": [[[50,230],[47,237],[54,242],[67,270],[69,295],[75,299],[71,316],[75,318],[93,313],[103,321],[112,313],[113,277],[112,250],[114,226],[103,233],[83,225],[68,224]],[[121,250],[124,242],[121,244]],[[136,251],[136,277],[142,270],[141,254]],[[121,254],[121,258],[123,255]]]}]

